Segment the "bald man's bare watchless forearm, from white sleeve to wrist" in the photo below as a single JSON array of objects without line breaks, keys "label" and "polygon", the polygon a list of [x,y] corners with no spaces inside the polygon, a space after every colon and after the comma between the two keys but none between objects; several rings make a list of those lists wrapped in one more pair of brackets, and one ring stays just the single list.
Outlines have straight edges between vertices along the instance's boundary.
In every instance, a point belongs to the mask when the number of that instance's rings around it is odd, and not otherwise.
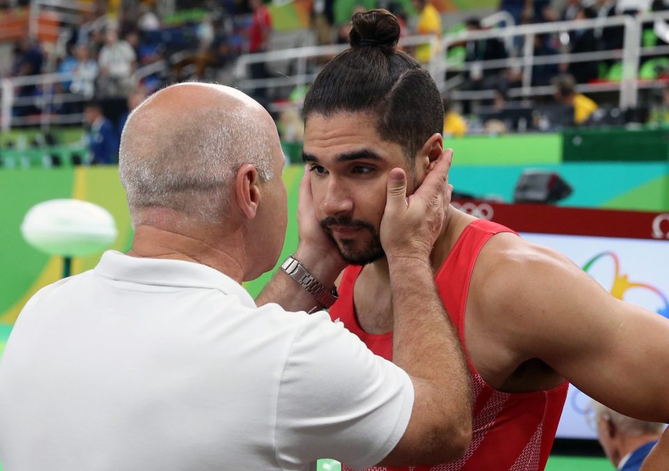
[{"label": "bald man's bare watchless forearm, from white sleeve to wrist", "polygon": [[[469,376],[456,331],[436,292],[429,263],[414,258],[391,261],[390,284],[393,362],[411,377],[415,403],[401,442],[381,464],[456,460],[469,445],[472,426]],[[446,447],[429,449],[430,441],[444,438]]]}]

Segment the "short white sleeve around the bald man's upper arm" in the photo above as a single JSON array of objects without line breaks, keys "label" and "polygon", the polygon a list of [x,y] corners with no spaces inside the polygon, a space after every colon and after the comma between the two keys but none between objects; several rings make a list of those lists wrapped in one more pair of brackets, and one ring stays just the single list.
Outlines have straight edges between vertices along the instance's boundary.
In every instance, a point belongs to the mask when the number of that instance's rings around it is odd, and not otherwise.
[{"label": "short white sleeve around the bald man's upper arm", "polygon": [[413,400],[413,383],[399,366],[371,353],[327,313],[308,316],[279,386],[277,461],[286,469],[318,458],[375,465],[406,431]]}]

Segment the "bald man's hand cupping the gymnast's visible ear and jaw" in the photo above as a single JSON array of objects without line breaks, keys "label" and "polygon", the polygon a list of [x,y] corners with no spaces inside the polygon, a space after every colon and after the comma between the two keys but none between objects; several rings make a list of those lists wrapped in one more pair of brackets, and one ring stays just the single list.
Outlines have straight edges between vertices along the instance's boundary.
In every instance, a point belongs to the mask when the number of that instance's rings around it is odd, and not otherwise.
[{"label": "bald man's hand cupping the gymnast's visible ear and jaw", "polygon": [[399,257],[429,261],[451,200],[448,171],[452,158],[453,151],[444,150],[420,187],[408,198],[406,173],[399,168],[390,171],[380,226],[381,245],[389,261]]}]

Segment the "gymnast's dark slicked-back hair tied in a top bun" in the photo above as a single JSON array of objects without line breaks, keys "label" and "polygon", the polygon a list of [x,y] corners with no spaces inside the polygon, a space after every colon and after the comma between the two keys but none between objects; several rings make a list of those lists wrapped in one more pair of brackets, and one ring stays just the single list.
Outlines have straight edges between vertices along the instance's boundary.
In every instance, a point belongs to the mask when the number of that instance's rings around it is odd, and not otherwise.
[{"label": "gymnast's dark slicked-back hair tied in a top bun", "polygon": [[318,74],[305,97],[311,114],[362,112],[376,117],[382,139],[402,146],[411,161],[429,137],[443,132],[441,95],[429,72],[396,49],[399,22],[387,10],[353,15],[351,45]]}]

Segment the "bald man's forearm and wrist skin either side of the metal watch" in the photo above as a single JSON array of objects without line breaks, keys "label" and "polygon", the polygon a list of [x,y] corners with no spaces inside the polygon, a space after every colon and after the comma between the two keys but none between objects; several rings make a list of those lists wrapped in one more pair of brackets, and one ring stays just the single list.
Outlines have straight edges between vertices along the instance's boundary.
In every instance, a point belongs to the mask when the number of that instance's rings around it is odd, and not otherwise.
[{"label": "bald man's forearm and wrist skin either side of the metal watch", "polygon": [[[309,254],[308,251],[298,248],[295,258],[318,279],[318,281],[330,289],[339,276],[343,267],[333,262],[328,257]],[[297,281],[286,275],[283,270],[277,270],[270,282],[263,288],[262,293],[256,299],[256,304],[261,306],[275,302],[286,311],[311,311],[314,307],[321,308],[314,296]]]}]

